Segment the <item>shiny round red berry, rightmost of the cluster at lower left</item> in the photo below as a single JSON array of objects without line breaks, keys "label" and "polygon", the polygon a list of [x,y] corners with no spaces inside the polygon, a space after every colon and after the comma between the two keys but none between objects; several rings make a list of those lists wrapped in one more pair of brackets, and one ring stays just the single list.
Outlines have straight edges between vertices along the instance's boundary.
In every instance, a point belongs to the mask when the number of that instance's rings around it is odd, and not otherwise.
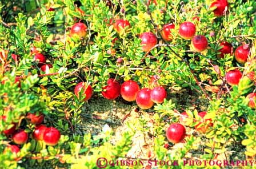
[{"label": "shiny round red berry, rightmost of the cluster at lower left", "polygon": [[47,146],[55,146],[61,138],[61,133],[55,127],[46,128],[45,133],[43,134],[43,141]]}]

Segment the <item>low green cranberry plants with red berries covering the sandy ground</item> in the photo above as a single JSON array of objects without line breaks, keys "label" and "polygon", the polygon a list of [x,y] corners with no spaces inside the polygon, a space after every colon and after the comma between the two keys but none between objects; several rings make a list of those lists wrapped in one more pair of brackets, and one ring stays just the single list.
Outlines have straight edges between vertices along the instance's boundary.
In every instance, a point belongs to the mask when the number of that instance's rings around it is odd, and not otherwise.
[{"label": "low green cranberry plants with red berries covering the sandy ground", "polygon": [[[243,159],[255,159],[255,2],[43,0],[0,6],[2,168],[97,168],[98,158],[129,158],[137,131],[150,133],[158,160],[182,163],[199,149],[201,159],[230,160],[235,146]],[[134,90],[125,89],[128,82]],[[205,105],[191,110],[174,102],[173,93],[182,91]],[[122,99],[119,94],[153,115],[123,123],[121,138],[109,126],[98,135],[81,129],[91,98]],[[37,123],[31,115],[44,119]],[[176,134],[166,135],[175,123],[182,128],[176,140]],[[39,124],[46,128],[39,131]],[[14,137],[20,131],[27,138]],[[179,142],[182,147],[173,149]]]}]

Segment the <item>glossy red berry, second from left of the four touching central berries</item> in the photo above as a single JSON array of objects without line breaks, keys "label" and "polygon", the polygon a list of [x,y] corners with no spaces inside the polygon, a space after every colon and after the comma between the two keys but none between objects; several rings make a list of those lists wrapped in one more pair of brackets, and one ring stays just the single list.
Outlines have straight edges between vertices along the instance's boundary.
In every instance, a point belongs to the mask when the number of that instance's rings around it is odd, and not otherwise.
[{"label": "glossy red berry, second from left of the four touching central berries", "polygon": [[137,93],[139,91],[138,83],[134,81],[126,81],[121,86],[121,96],[128,102],[132,102],[136,99]]}]

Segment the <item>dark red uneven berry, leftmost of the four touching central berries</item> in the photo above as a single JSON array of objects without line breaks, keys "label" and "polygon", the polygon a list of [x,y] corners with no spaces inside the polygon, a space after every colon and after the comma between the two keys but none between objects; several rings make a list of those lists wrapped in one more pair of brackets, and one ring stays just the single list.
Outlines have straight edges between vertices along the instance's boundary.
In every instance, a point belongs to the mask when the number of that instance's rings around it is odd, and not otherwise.
[{"label": "dark red uneven berry, leftmost of the four touching central berries", "polygon": [[107,80],[107,86],[102,87],[102,95],[109,100],[115,99],[120,94],[120,84],[115,79]]}]

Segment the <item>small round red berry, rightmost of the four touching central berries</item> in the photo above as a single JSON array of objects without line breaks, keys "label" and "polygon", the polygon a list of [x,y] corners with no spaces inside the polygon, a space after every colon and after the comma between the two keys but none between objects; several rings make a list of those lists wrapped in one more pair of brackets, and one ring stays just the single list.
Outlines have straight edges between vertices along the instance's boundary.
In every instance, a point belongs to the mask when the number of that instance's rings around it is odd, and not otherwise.
[{"label": "small round red berry, rightmost of the four touching central berries", "polygon": [[163,100],[166,98],[166,96],[167,92],[162,86],[154,87],[150,93],[150,98],[154,103],[163,103]]}]

